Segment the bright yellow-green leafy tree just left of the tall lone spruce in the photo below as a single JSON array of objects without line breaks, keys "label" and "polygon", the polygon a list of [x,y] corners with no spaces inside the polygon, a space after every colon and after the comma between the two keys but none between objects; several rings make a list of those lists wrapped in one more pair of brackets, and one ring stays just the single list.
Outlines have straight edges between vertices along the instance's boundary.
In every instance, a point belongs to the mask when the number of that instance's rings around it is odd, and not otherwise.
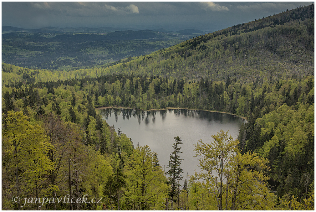
[{"label": "bright yellow-green leafy tree just left of the tall lone spruce", "polygon": [[168,186],[158,159],[148,146],[137,146],[129,161],[127,186],[133,209],[164,209]]}]

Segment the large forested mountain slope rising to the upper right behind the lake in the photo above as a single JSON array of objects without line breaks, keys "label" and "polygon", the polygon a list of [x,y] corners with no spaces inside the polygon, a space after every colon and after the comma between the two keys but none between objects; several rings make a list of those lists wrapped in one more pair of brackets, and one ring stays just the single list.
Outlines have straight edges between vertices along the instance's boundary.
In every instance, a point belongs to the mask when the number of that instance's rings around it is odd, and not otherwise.
[{"label": "large forested mountain slope rising to the upper right behind the lake", "polygon": [[106,68],[186,79],[314,74],[314,5],[205,34]]}]

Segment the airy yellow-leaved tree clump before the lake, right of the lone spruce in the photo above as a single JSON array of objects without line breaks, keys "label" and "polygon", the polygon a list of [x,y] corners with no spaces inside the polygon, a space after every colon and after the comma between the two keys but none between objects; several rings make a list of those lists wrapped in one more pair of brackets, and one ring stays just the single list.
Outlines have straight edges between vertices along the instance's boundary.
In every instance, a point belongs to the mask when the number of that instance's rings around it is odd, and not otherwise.
[{"label": "airy yellow-leaved tree clump before the lake, right of the lone spruce", "polygon": [[255,153],[242,155],[236,148],[239,141],[228,136],[228,132],[221,131],[212,138],[210,143],[200,140],[195,145],[202,171],[194,177],[203,180],[194,185],[202,193],[197,196],[212,197],[218,210],[273,209],[275,198],[264,175],[268,160]]}]

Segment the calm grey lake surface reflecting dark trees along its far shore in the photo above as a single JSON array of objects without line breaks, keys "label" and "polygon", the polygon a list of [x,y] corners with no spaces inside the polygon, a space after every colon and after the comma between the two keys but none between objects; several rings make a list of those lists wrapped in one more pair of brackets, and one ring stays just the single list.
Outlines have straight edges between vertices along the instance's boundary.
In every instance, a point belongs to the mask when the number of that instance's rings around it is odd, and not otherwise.
[{"label": "calm grey lake surface reflecting dark trees along its far shore", "polygon": [[200,171],[195,156],[194,145],[200,139],[204,142],[212,140],[212,135],[220,130],[228,131],[237,139],[242,118],[216,112],[187,109],[168,109],[159,111],[142,111],[132,109],[102,109],[100,115],[109,125],[114,125],[130,137],[136,147],[148,145],[158,153],[159,164],[166,165],[168,171],[170,153],[173,151],[173,137],[182,139],[180,158],[183,176],[193,175]]}]

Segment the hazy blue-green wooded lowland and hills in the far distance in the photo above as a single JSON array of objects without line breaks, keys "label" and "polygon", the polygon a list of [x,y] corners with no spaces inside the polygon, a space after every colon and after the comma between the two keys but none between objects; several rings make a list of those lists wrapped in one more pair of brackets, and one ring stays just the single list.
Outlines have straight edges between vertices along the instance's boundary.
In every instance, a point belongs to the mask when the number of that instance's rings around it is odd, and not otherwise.
[{"label": "hazy blue-green wooded lowland and hills in the far distance", "polygon": [[102,33],[82,33],[91,28],[77,28],[78,32],[67,33],[57,30],[46,27],[33,32],[6,31],[2,34],[2,62],[29,68],[73,69],[148,54],[188,39],[188,36],[152,30],[105,32],[103,29]]}]

